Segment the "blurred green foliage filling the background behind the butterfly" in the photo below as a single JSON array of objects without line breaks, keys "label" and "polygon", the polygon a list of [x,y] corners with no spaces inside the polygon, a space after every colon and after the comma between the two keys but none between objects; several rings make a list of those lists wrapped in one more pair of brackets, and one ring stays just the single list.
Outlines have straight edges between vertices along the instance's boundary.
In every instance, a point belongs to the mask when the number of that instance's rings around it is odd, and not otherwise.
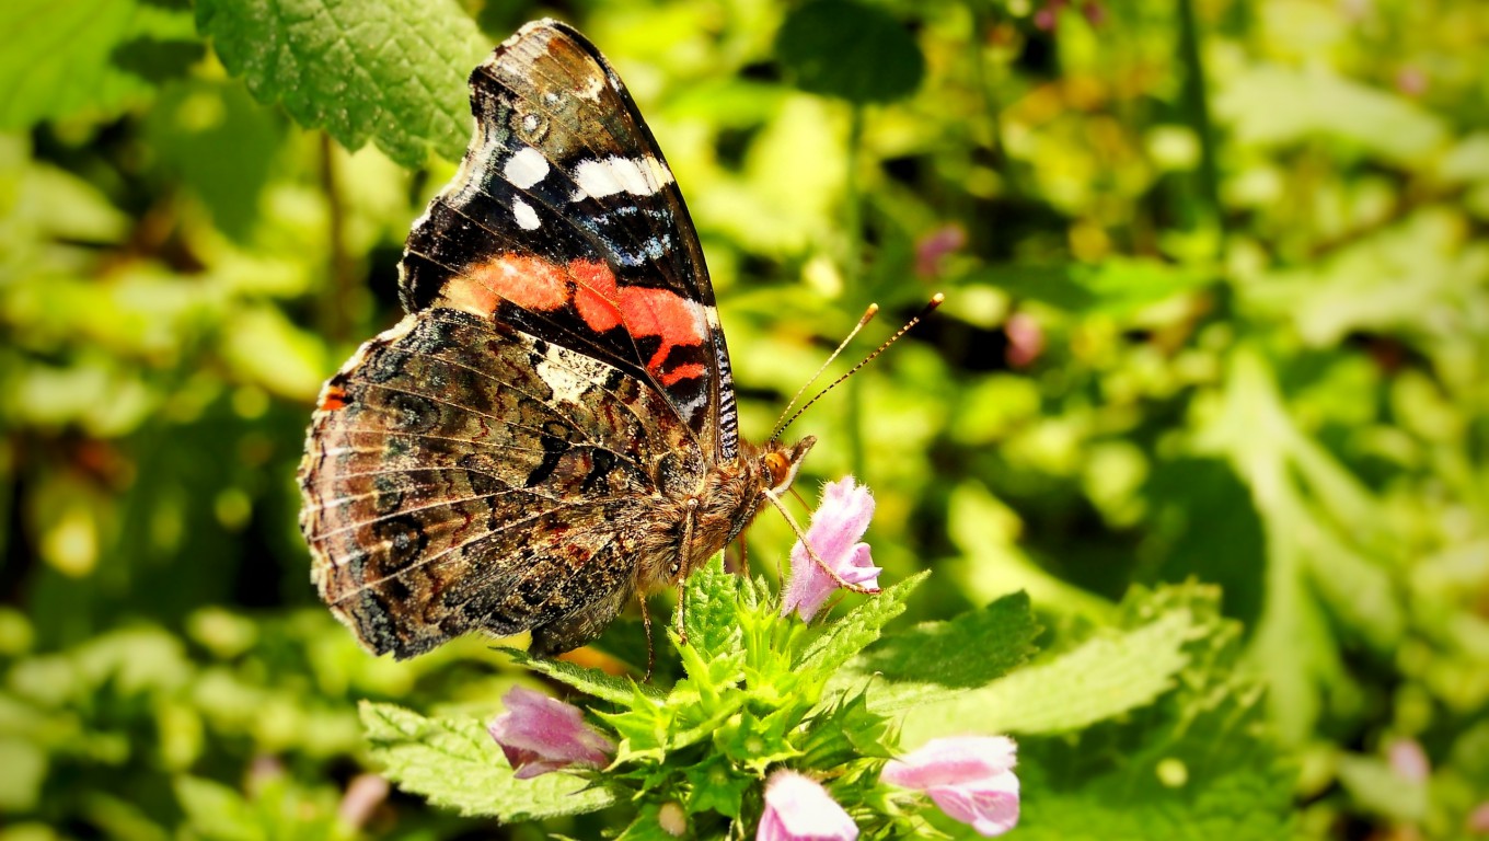
[{"label": "blurred green foliage filling the background behind the butterfly", "polygon": [[[1471,832],[1482,3],[12,0],[0,838],[490,831],[348,795],[375,768],[356,703],[485,716],[532,677],[482,640],[360,652],[316,604],[292,476],[319,383],[395,319],[465,74],[543,13],[606,51],[688,195],[746,433],[867,302],[893,322],[946,292],[794,429],[822,438],[806,488],[876,490],[889,579],[935,570],[913,619],[1024,589],[1044,668],[1088,656],[1127,698],[1078,737],[968,720],[1027,734],[1021,831],[1184,834],[1133,795],[1154,780],[1270,802],[1217,767],[1266,731],[1307,837]],[[750,534],[773,569],[789,531]],[[1166,598],[1231,636],[1123,600],[1188,579],[1230,624]]]}]

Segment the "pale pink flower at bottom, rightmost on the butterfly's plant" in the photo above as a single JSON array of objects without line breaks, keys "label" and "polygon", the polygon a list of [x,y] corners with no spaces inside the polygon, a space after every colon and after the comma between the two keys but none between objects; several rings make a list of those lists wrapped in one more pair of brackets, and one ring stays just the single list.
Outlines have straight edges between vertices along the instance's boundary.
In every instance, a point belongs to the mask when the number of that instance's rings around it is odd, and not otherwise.
[{"label": "pale pink flower at bottom, rightmost on the butterfly's plant", "polygon": [[890,759],[879,778],[931,795],[948,817],[990,838],[1018,823],[1015,752],[1007,735],[932,738]]}]

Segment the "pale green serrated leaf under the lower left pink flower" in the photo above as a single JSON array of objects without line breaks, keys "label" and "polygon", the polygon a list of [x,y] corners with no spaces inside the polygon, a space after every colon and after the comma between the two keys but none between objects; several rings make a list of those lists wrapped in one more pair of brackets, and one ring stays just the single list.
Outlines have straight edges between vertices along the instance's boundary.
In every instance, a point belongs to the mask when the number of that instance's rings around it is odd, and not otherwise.
[{"label": "pale green serrated leaf under the lower left pink flower", "polygon": [[372,756],[404,790],[465,816],[530,820],[596,811],[615,802],[606,789],[564,773],[518,780],[476,719],[426,719],[393,704],[363,701]]}]

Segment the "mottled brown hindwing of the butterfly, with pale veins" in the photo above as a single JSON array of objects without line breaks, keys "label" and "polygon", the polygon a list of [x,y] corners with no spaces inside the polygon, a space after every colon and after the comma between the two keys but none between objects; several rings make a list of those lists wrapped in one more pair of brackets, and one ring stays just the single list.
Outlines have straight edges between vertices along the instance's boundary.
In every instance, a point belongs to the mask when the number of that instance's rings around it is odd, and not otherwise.
[{"label": "mottled brown hindwing of the butterfly, with pale veins", "polygon": [[566,650],[634,591],[651,466],[688,435],[603,362],[462,311],[408,316],[311,426],[301,525],[322,597],[378,653],[478,628]]}]

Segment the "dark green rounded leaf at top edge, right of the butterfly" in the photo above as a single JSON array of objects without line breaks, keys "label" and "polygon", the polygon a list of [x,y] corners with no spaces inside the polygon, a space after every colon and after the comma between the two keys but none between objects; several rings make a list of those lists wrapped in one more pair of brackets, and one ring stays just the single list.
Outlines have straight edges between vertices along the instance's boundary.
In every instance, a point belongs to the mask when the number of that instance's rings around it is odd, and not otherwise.
[{"label": "dark green rounded leaf at top edge, right of the butterfly", "polygon": [[852,0],[794,9],[776,34],[776,57],[801,89],[855,104],[908,97],[926,68],[920,45],[893,15]]}]

